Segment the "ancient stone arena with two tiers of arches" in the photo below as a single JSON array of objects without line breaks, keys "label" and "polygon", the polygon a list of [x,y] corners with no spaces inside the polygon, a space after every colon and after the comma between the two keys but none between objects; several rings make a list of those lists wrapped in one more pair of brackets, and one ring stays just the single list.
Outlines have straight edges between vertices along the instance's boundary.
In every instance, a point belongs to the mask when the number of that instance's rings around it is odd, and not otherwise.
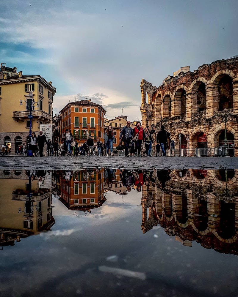
[{"label": "ancient stone arena with two tiers of arches", "polygon": [[181,71],[159,87],[143,79],[140,87],[142,126],[163,124],[170,148],[228,146],[238,156],[238,57]]}]

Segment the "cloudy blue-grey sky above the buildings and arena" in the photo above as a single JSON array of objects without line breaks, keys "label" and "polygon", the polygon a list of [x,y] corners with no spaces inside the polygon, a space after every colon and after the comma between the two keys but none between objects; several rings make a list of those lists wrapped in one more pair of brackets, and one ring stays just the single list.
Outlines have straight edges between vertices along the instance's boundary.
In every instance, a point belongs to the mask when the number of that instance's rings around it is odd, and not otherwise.
[{"label": "cloudy blue-grey sky above the buildings and arena", "polygon": [[107,117],[140,119],[142,78],[159,86],[182,66],[238,54],[237,0],[8,0],[0,3],[0,62],[39,74],[69,100]]}]

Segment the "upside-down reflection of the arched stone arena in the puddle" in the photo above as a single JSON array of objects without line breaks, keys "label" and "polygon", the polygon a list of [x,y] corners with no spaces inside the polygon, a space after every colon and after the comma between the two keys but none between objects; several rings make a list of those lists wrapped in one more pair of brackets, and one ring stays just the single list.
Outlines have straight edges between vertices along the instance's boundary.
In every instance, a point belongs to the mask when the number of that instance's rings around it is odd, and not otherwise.
[{"label": "upside-down reflection of the arched stone arena in the puddle", "polygon": [[164,187],[143,186],[142,230],[160,225],[184,245],[238,255],[238,170],[172,170]]}]

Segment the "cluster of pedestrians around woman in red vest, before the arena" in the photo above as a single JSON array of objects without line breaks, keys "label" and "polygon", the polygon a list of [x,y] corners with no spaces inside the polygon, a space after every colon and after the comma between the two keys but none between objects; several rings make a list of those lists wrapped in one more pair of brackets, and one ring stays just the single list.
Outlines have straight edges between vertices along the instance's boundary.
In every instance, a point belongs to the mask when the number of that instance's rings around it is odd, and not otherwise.
[{"label": "cluster of pedestrians around woman in red vest, before the arena", "polygon": [[[141,157],[141,147],[143,143],[143,156],[145,154],[147,157],[152,157],[151,150],[152,150],[152,143],[154,140],[152,138],[152,134],[156,131],[154,127],[149,130],[149,127],[146,126],[144,129],[141,127],[139,121],[136,122],[136,126],[134,129],[130,127],[131,122],[128,121],[126,126],[123,127],[122,131],[120,132],[120,142],[124,142],[125,146],[125,157],[130,156],[137,156]],[[165,131],[165,126],[161,125],[160,131],[157,133],[156,136],[156,157],[159,156],[160,148],[162,150],[163,157],[166,157],[166,148],[168,148],[168,137],[170,133]]]}]

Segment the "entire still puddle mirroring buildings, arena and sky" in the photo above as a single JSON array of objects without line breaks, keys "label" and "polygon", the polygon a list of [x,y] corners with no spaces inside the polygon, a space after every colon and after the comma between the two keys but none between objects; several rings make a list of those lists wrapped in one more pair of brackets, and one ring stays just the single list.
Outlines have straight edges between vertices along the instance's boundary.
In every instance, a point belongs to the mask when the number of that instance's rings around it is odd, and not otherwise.
[{"label": "entire still puddle mirroring buildings, arena and sky", "polygon": [[238,296],[238,170],[0,170],[0,296]]}]

